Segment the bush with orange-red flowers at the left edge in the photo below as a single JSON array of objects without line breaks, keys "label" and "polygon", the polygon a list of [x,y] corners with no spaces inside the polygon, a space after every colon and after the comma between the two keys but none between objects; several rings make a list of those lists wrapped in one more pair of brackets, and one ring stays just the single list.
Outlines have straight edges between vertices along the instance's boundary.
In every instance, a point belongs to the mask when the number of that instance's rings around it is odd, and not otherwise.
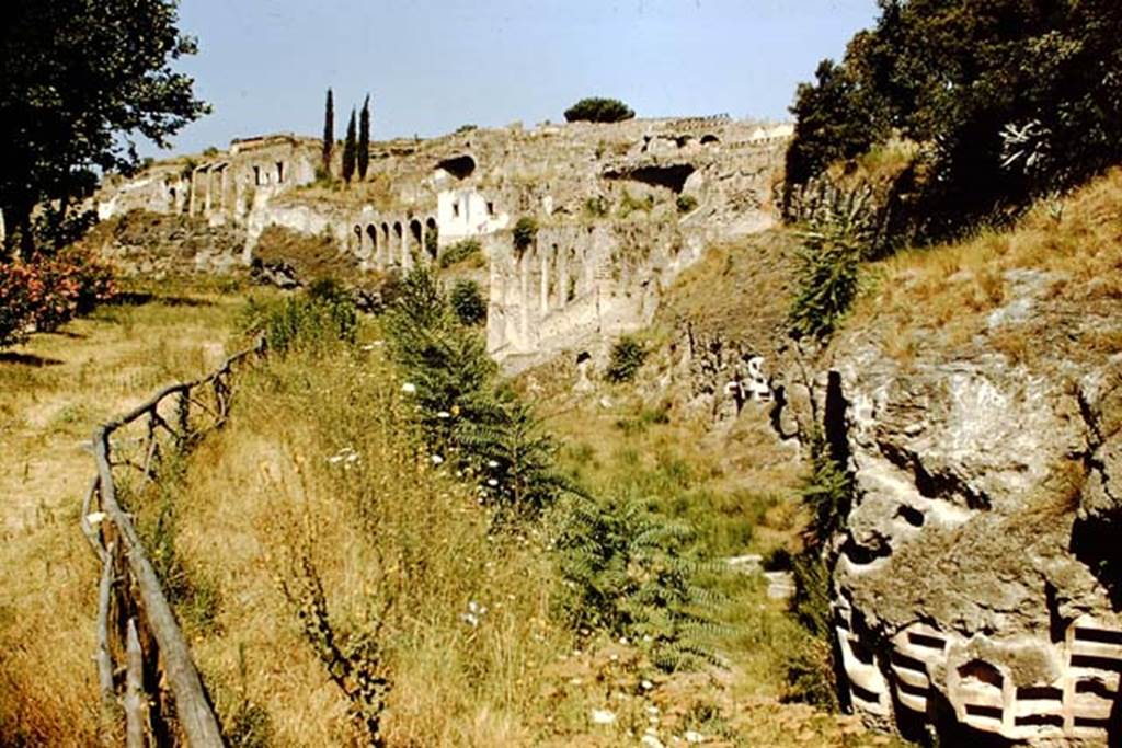
[{"label": "bush with orange-red flowers at the left edge", "polygon": [[0,347],[49,332],[117,294],[110,268],[76,250],[0,264]]}]

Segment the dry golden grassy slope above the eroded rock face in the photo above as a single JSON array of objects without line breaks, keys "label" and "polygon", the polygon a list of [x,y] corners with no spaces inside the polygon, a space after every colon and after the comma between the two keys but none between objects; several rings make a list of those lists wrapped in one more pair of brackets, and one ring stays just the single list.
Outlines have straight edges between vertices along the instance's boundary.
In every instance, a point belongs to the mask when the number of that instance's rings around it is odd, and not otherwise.
[{"label": "dry golden grassy slope above the eroded rock face", "polygon": [[[996,333],[988,315],[1017,298],[1018,270],[1048,274],[1027,324]],[[996,348],[1012,363],[1042,353],[1080,355],[1122,350],[1122,332],[1105,324],[1070,340],[1076,320],[1118,318],[1122,302],[1122,169],[1057,201],[1037,205],[1008,231],[983,230],[954,244],[902,252],[870,268],[867,293],[847,331],[882,336],[886,352],[909,362],[919,347],[968,355]]]}]

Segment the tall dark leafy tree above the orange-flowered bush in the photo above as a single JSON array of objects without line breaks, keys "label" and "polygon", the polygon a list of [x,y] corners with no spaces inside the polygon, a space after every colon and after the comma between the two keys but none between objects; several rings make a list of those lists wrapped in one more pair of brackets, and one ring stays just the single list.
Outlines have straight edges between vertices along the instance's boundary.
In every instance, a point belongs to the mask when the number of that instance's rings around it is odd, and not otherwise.
[{"label": "tall dark leafy tree above the orange-flowered bush", "polygon": [[31,212],[55,241],[98,170],[131,173],[136,138],[159,147],[209,111],[172,63],[195,54],[174,0],[11,0],[0,24],[0,210],[20,249]]}]

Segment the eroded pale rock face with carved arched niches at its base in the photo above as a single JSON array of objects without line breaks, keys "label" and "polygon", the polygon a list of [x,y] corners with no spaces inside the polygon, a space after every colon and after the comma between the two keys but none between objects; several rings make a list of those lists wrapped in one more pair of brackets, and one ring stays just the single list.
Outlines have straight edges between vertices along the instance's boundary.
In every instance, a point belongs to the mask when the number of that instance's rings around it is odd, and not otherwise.
[{"label": "eroded pale rock face with carved arched niches at its base", "polygon": [[819,398],[856,486],[834,578],[854,709],[951,745],[1119,745],[1122,355],[838,350]]}]

